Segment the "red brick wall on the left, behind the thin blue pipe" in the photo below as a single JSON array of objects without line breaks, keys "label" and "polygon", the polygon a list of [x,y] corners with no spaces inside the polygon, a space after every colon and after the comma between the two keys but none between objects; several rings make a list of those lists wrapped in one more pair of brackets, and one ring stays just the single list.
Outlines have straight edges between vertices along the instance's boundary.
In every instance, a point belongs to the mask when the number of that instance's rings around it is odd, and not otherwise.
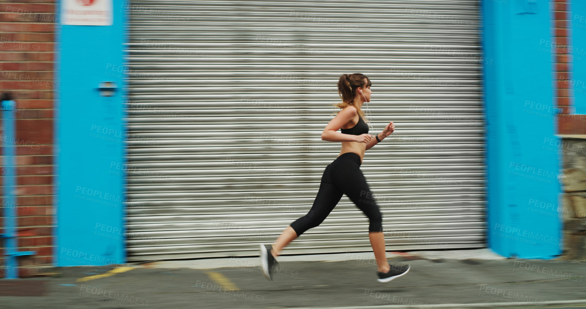
[{"label": "red brick wall on the left, behind the thin blue pipe", "polygon": [[17,108],[18,250],[36,251],[18,258],[20,276],[42,274],[53,259],[55,11],[52,0],[0,0],[0,92]]}]

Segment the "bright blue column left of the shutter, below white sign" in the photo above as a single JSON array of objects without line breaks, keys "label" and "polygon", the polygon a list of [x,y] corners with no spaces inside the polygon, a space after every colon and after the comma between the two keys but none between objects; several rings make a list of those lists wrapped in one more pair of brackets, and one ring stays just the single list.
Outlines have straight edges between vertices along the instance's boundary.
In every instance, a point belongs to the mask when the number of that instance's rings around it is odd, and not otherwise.
[{"label": "bright blue column left of the shutter, below white sign", "polygon": [[125,263],[124,8],[111,26],[57,26],[57,266]]}]

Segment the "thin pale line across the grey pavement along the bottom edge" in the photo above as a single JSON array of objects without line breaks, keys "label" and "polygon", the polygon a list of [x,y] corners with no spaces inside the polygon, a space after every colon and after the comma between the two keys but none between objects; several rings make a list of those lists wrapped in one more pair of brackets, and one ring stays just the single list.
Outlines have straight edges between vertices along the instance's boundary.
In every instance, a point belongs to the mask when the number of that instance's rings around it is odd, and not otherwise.
[{"label": "thin pale line across the grey pavement along the bottom edge", "polygon": [[421,304],[421,305],[372,305],[372,306],[353,306],[353,307],[289,307],[288,309],[380,309],[380,308],[396,308],[396,309],[425,309],[425,308],[459,308],[459,309],[478,309],[478,308],[536,308],[537,307],[553,307],[563,305],[585,305],[585,300],[558,300],[558,301],[546,301],[545,306],[540,306],[534,303],[519,301],[510,303],[472,303],[472,304]]}]

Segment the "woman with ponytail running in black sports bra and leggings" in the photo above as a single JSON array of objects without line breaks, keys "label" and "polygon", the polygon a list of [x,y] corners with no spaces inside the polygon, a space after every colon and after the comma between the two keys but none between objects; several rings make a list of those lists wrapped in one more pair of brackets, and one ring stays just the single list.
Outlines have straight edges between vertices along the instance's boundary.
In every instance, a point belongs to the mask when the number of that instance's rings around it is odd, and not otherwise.
[{"label": "woman with ponytail running in black sports bra and leggings", "polygon": [[[364,121],[366,116],[360,109],[364,102],[370,101],[370,79],[361,73],[342,74],[338,81],[338,94],[341,108],[322,132],[322,140],[342,142],[338,157],[323,172],[318,195],[309,212],[291,223],[271,245],[260,244],[261,271],[267,280],[272,280],[272,271],[277,267],[275,257],[289,242],[306,230],[319,226],[338,204],[343,194],[358,206],[369,218],[369,239],[378,266],[379,282],[389,282],[403,276],[411,268],[409,265],[394,265],[387,262],[384,249],[383,217],[369,185],[360,171],[364,151],[378,144],[393,133],[393,121],[373,138],[368,134],[369,127]],[[337,131],[339,129],[341,133]]]}]

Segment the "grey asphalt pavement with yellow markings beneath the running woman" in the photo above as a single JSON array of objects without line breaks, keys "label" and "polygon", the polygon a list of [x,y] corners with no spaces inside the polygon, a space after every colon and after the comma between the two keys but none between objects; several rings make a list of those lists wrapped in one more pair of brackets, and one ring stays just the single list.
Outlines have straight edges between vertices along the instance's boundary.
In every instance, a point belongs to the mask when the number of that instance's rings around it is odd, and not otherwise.
[{"label": "grey asphalt pavement with yellow markings beneath the running woman", "polygon": [[[376,281],[370,253],[279,256],[268,281],[258,257],[66,267],[14,280],[44,296],[2,308],[553,308],[586,307],[586,262],[505,259],[489,250],[388,253],[406,276]],[[11,280],[5,280],[11,281]],[[42,283],[39,283],[42,282]],[[0,294],[2,295],[2,294]]]}]

